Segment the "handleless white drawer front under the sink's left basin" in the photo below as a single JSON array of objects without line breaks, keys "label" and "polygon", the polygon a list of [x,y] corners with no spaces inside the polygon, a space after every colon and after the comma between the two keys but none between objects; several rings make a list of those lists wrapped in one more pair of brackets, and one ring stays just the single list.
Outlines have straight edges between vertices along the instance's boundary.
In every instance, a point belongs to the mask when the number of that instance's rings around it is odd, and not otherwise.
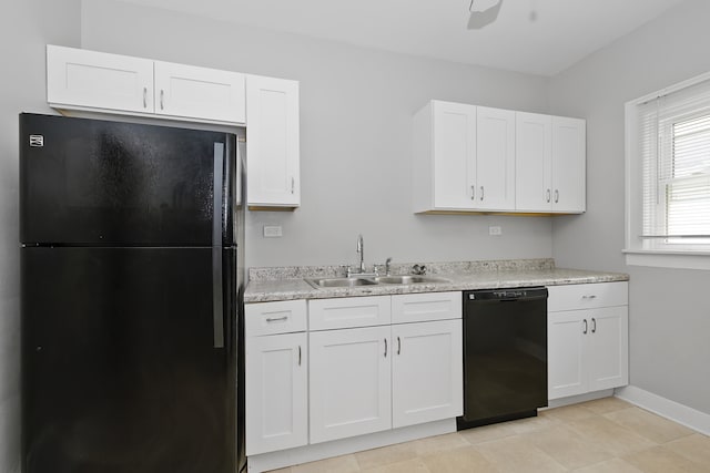
[{"label": "handleless white drawer front under the sink's left basin", "polygon": [[311,330],[384,326],[392,322],[389,296],[347,297],[308,301]]}]

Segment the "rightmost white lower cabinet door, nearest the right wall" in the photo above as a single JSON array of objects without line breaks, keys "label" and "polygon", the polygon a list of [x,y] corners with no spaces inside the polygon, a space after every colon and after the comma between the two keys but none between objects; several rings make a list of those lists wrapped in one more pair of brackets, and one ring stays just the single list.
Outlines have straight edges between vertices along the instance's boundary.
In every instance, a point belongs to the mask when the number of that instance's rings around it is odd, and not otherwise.
[{"label": "rightmost white lower cabinet door, nearest the right wall", "polygon": [[589,316],[589,390],[629,383],[628,306],[592,310]]}]

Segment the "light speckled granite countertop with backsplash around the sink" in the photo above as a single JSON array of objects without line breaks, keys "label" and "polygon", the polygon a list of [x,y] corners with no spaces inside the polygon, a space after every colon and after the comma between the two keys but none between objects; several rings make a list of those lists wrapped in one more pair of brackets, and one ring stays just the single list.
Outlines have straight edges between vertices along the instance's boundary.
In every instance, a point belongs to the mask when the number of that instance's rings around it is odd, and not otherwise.
[{"label": "light speckled granite countertop with backsplash around the sink", "polygon": [[[316,289],[304,278],[342,277],[342,268],[256,268],[250,270],[250,282],[244,292],[244,301],[248,304],[629,280],[629,276],[621,273],[556,268],[551,259],[426,264],[426,266],[427,275],[446,281]],[[392,274],[408,274],[409,268],[410,265],[393,265]]]}]

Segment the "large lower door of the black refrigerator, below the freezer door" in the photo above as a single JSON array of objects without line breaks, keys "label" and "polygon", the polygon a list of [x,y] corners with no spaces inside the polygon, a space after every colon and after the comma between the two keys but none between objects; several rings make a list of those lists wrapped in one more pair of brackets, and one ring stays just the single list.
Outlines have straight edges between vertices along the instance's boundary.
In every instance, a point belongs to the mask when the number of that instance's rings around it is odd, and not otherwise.
[{"label": "large lower door of the black refrigerator, below the freezer door", "polygon": [[26,473],[233,473],[235,250],[23,248]]}]

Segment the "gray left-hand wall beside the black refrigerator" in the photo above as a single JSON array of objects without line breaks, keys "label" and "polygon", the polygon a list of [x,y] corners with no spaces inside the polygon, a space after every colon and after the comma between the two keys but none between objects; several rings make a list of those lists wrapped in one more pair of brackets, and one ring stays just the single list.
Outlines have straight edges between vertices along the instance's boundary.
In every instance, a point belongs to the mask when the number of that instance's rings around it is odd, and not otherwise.
[{"label": "gray left-hand wall beside the black refrigerator", "polygon": [[47,106],[44,45],[80,43],[79,0],[2,4],[0,21],[0,471],[13,472],[19,453],[18,113]]}]

